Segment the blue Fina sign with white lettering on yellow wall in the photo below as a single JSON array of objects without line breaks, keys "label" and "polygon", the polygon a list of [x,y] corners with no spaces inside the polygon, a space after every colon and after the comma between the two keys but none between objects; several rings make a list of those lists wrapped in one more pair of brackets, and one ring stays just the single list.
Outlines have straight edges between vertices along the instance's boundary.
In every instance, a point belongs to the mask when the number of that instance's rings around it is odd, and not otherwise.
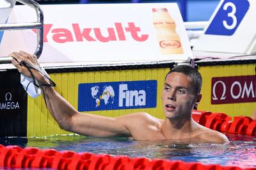
[{"label": "blue Fina sign with white lettering on yellow wall", "polygon": [[78,111],[156,107],[157,81],[79,84]]}]

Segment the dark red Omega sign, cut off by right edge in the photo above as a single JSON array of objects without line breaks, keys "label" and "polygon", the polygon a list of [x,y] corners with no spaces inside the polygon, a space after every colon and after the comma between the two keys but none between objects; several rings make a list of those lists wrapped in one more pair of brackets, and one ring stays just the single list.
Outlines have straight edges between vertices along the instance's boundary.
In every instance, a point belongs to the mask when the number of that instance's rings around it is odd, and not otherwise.
[{"label": "dark red Omega sign, cut off by right edge", "polygon": [[211,104],[256,102],[255,75],[213,77]]}]

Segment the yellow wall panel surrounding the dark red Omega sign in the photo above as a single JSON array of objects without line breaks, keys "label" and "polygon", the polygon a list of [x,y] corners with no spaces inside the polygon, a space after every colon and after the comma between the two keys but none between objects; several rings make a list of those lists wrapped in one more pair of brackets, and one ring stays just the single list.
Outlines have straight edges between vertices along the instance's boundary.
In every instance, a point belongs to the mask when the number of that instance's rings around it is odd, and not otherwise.
[{"label": "yellow wall panel surrounding the dark red Omega sign", "polygon": [[212,77],[255,75],[255,64],[250,65],[223,65],[223,66],[200,66],[202,74],[202,101],[198,110],[211,112],[224,112],[229,116],[252,116],[255,102],[239,104],[211,104],[211,79]]}]

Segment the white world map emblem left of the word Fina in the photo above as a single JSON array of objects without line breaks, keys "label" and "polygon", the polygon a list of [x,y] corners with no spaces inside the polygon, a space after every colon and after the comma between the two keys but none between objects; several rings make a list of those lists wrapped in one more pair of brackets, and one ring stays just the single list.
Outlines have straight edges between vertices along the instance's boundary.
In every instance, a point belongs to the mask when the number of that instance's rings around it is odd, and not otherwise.
[{"label": "white world map emblem left of the word Fina", "polygon": [[113,104],[115,91],[112,86],[104,86],[102,90],[100,90],[99,86],[93,86],[91,89],[92,98],[95,99],[95,107],[99,107],[100,104]]}]

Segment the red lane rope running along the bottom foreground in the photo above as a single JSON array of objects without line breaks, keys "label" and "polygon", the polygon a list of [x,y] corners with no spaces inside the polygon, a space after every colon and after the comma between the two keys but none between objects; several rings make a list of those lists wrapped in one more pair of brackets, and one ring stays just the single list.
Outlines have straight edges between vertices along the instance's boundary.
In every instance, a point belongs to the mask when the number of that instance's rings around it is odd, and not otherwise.
[{"label": "red lane rope running along the bottom foreground", "polygon": [[[10,168],[52,168],[68,170],[239,170],[236,166],[204,165],[199,162],[183,162],[180,160],[150,160],[148,158],[129,158],[106,154],[76,153],[74,151],[56,151],[53,149],[20,148],[20,146],[3,146],[0,144],[0,167]],[[252,170],[256,168],[246,168]]]}]

